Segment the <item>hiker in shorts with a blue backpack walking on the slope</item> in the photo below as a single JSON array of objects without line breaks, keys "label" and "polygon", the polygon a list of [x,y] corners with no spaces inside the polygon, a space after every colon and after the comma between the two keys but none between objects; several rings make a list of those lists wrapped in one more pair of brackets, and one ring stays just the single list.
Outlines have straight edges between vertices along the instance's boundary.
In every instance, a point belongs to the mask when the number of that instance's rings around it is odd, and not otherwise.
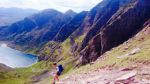
[{"label": "hiker in shorts with a blue backpack walking on the slope", "polygon": [[63,72],[64,68],[63,66],[60,64],[60,65],[57,65],[57,63],[53,63],[53,67],[56,69],[56,73],[54,73],[54,79],[53,79],[53,83],[52,84],[55,84],[55,81],[59,81],[59,76],[61,75],[61,73]]}]

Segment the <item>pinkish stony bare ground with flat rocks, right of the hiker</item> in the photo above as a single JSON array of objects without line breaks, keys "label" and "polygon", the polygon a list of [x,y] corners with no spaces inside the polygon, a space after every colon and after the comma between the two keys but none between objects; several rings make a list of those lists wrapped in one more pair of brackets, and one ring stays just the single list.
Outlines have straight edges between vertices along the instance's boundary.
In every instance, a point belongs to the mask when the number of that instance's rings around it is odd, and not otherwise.
[{"label": "pinkish stony bare ground with flat rocks, right of the hiker", "polygon": [[57,84],[150,84],[150,66],[134,69],[98,69],[68,76]]}]

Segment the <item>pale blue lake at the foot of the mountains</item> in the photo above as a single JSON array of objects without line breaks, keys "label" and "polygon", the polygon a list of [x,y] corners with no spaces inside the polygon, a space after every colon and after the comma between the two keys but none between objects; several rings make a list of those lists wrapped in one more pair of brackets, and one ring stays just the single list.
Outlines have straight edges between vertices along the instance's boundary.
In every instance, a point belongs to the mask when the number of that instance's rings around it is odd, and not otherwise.
[{"label": "pale blue lake at the foot of the mountains", "polygon": [[0,63],[13,68],[28,67],[38,61],[38,57],[25,54],[18,50],[7,47],[6,44],[0,45]]}]

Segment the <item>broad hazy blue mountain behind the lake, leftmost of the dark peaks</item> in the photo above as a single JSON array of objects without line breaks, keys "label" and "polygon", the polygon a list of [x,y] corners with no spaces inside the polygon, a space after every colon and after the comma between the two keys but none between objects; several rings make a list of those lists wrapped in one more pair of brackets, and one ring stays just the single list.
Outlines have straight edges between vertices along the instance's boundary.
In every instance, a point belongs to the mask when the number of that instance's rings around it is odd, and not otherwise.
[{"label": "broad hazy blue mountain behind the lake, leftmost of the dark peaks", "polygon": [[10,40],[14,44],[27,47],[40,46],[52,40],[61,27],[69,22],[75,13],[61,13],[47,9],[22,21],[6,26],[0,31],[1,40]]}]

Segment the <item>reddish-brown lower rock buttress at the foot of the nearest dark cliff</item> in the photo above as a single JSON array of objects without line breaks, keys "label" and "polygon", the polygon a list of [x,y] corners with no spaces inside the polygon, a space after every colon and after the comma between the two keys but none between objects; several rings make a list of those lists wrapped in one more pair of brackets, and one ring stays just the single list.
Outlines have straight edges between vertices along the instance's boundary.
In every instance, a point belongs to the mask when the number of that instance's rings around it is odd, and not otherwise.
[{"label": "reddish-brown lower rock buttress at the foot of the nearest dark cliff", "polygon": [[101,37],[97,35],[96,38],[92,39],[89,45],[80,52],[81,64],[87,64],[95,61],[101,55]]}]

